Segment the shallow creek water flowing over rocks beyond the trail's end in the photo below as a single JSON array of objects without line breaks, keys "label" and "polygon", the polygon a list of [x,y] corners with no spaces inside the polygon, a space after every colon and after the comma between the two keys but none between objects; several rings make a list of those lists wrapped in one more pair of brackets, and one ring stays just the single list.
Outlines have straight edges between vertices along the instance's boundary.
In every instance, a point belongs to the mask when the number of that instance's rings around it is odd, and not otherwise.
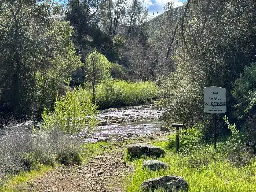
[{"label": "shallow creek water flowing over rocks beyond the trail's end", "polygon": [[110,108],[101,110],[98,120],[108,122],[108,125],[97,126],[96,132],[85,142],[96,142],[99,138],[114,137],[132,133],[135,135],[160,132],[164,122],[159,121],[162,111],[157,110],[154,104],[124,108]]}]

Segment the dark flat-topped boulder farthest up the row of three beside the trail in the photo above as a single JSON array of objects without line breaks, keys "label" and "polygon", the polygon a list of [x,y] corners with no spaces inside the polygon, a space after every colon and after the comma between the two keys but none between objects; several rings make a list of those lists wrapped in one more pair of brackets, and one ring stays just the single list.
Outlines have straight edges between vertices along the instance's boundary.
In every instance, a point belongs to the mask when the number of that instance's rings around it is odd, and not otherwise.
[{"label": "dark flat-topped boulder farthest up the row of three beside the trail", "polygon": [[164,149],[147,143],[133,143],[127,147],[128,154],[132,158],[139,158],[141,156],[152,156],[159,158],[165,154]]}]

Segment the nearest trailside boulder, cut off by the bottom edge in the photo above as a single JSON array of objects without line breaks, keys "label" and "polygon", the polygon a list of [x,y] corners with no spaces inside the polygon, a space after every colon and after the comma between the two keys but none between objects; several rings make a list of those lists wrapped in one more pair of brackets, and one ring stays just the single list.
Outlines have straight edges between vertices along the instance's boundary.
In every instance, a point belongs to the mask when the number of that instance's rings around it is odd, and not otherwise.
[{"label": "nearest trailside boulder, cut off by the bottom edge", "polygon": [[170,175],[146,180],[140,187],[143,192],[154,192],[158,189],[166,190],[166,192],[178,192],[187,191],[188,183],[180,176]]}]

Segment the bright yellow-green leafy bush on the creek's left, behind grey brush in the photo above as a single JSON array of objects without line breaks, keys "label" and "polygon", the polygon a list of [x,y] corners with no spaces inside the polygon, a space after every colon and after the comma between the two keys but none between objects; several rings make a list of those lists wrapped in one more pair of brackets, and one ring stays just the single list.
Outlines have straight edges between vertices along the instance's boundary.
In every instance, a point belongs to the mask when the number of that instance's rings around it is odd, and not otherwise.
[{"label": "bright yellow-green leafy bush on the creek's left, behind grey brush", "polygon": [[81,87],[75,88],[72,91],[66,91],[66,95],[60,100],[58,95],[56,96],[54,112],[48,113],[44,109],[43,127],[48,130],[58,126],[66,134],[79,134],[86,129],[84,134],[88,136],[96,125],[96,113],[91,95],[84,94]]}]

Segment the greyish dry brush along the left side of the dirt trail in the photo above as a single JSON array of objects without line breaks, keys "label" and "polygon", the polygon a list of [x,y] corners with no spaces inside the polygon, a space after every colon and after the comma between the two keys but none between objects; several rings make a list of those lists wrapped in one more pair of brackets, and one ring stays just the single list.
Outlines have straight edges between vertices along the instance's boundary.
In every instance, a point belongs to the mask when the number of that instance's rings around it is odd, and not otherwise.
[{"label": "greyish dry brush along the left side of the dirt trail", "polygon": [[56,126],[32,132],[12,123],[6,127],[0,136],[0,181],[39,164],[53,166],[56,160],[66,165],[80,163],[80,140]]}]

